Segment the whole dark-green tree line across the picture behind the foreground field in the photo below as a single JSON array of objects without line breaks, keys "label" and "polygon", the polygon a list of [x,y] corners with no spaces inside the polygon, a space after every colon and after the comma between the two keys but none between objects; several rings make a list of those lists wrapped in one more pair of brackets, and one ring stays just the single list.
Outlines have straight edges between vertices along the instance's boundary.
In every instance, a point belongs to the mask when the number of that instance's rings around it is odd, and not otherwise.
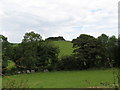
[{"label": "whole dark-green tree line across the picture behind the foreground field", "polygon": [[[18,44],[8,42],[7,37],[3,35],[0,35],[0,38],[3,74],[25,70],[39,72],[45,69],[49,71],[84,70],[120,66],[118,55],[120,39],[115,36],[109,37],[102,34],[95,38],[91,35],[81,34],[71,41],[74,48],[73,53],[62,58],[58,58],[59,47],[51,42],[51,38],[43,40],[38,33],[25,33],[22,42]],[[53,39],[56,40],[56,38]],[[15,63],[15,68],[7,69],[8,60]]]}]

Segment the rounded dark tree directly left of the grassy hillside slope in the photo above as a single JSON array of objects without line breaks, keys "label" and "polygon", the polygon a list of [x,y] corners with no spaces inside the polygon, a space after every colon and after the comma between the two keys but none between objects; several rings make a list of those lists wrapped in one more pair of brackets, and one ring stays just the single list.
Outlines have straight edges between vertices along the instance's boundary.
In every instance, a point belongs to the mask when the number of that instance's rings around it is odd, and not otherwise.
[{"label": "rounded dark tree directly left of the grassy hillside slope", "polygon": [[55,70],[59,49],[53,43],[44,41],[37,47],[37,67],[39,70]]}]

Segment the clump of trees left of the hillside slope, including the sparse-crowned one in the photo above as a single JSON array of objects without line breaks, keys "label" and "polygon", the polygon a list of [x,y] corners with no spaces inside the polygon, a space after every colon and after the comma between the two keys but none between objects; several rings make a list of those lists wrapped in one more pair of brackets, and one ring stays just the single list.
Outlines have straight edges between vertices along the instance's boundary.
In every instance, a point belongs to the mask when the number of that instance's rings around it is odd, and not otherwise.
[{"label": "clump of trees left of the hillside slope, including the sparse-crowned one", "polygon": [[37,33],[26,33],[22,43],[14,47],[15,63],[20,70],[43,71],[54,69],[57,62],[58,48],[43,41]]}]

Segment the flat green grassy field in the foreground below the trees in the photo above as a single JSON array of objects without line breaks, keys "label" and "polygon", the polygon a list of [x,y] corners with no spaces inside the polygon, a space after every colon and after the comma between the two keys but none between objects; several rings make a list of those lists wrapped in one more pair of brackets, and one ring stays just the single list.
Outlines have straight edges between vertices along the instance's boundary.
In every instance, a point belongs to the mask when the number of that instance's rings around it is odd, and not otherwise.
[{"label": "flat green grassy field in the foreground below the trees", "polygon": [[[112,70],[108,69],[21,74],[4,77],[3,86],[9,83],[9,85],[7,85],[9,88],[12,86],[10,80],[14,80],[19,83],[23,81],[23,87],[29,86],[30,88],[106,87],[107,84],[113,84],[112,73]],[[26,80],[27,82],[24,83]]]}]

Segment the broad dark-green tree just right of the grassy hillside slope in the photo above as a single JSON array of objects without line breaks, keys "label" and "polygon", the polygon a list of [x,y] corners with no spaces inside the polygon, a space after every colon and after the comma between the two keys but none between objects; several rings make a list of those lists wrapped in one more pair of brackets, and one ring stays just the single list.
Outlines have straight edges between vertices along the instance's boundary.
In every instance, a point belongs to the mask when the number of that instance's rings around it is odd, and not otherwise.
[{"label": "broad dark-green tree just right of the grassy hillside slope", "polygon": [[72,41],[73,47],[75,47],[74,53],[81,66],[84,68],[95,67],[96,63],[101,61],[99,58],[100,44],[96,38],[90,35],[81,34],[77,39]]}]

